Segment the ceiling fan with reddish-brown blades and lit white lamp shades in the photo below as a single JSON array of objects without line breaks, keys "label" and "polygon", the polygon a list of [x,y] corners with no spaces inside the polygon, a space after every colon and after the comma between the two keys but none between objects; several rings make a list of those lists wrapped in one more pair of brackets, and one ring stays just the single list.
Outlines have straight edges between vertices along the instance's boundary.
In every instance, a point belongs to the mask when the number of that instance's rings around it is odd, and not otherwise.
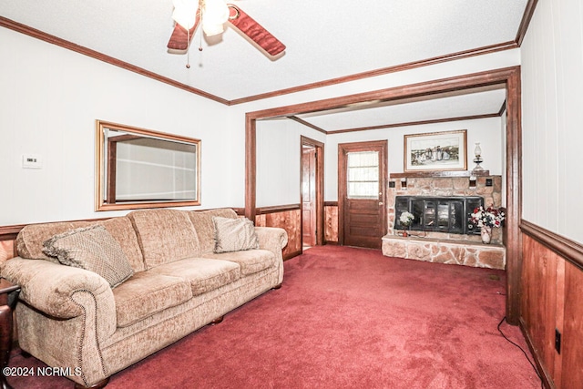
[{"label": "ceiling fan with reddish-brown blades and lit white lamp shades", "polygon": [[272,36],[239,6],[225,4],[223,0],[174,0],[172,18],[176,26],[168,42],[168,48],[171,50],[187,50],[200,22],[206,36],[221,34],[224,31],[224,24],[228,22],[269,56],[277,56],[285,50],[285,45],[280,40]]}]

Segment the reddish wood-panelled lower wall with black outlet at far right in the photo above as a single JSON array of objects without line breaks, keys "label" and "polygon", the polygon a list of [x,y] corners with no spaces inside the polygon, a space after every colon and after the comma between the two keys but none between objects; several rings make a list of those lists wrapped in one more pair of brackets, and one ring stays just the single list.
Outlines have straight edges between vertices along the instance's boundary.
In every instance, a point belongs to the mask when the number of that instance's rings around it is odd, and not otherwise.
[{"label": "reddish wood-panelled lower wall with black outlet at far right", "polygon": [[[547,387],[583,388],[582,247],[524,222],[520,324]],[[562,247],[561,247],[562,246]],[[569,255],[569,252],[572,253]],[[561,333],[560,353],[555,331]]]}]

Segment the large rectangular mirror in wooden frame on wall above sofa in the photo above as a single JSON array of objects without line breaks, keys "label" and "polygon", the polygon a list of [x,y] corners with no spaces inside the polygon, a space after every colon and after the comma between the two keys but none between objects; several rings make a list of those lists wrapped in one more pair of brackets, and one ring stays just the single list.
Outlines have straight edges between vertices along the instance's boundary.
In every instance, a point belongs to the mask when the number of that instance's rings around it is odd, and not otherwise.
[{"label": "large rectangular mirror in wooden frame on wall above sofa", "polygon": [[96,121],[96,210],[200,205],[200,140]]}]

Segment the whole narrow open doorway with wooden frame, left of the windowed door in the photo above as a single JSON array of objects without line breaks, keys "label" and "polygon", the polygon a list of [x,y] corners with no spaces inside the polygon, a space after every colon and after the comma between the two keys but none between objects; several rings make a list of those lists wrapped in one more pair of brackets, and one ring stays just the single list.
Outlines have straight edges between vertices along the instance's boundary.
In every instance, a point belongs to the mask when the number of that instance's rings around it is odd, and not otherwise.
[{"label": "whole narrow open doorway with wooden frame, left of the windowed door", "polygon": [[302,137],[302,251],[323,241],[323,151],[322,142]]}]

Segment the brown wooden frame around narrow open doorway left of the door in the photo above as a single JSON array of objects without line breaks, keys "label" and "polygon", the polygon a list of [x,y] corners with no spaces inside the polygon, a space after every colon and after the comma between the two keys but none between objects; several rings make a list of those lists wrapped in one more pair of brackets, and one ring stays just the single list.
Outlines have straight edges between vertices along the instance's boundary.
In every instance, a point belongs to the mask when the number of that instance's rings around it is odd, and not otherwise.
[{"label": "brown wooden frame around narrow open doorway left of the door", "polygon": [[[304,137],[300,140],[300,236],[303,240],[303,204],[302,204],[302,171],[303,146],[316,149],[316,246],[322,246],[324,241],[324,144],[318,140]],[[303,244],[302,244],[303,252]]]}]

